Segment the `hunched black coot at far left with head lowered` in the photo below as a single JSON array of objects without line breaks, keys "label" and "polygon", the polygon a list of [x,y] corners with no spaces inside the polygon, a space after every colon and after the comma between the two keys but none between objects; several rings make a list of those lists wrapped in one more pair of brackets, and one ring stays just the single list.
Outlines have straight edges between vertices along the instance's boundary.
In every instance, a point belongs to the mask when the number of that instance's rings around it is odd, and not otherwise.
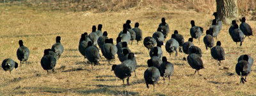
[{"label": "hunched black coot at far left with head lowered", "polygon": [[11,71],[13,68],[17,69],[18,63],[12,60],[12,58],[6,58],[2,62],[2,67],[5,72],[10,71],[10,74],[11,74]]}]

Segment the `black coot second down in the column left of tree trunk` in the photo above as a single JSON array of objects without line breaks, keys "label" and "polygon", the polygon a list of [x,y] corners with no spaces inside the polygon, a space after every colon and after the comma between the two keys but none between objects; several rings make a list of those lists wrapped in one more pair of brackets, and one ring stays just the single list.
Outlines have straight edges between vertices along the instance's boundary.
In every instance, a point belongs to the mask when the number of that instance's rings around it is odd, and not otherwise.
[{"label": "black coot second down in the column left of tree trunk", "polygon": [[217,39],[218,34],[220,33],[218,25],[216,25],[216,19],[212,20],[212,25],[209,28],[210,34],[212,37]]}]

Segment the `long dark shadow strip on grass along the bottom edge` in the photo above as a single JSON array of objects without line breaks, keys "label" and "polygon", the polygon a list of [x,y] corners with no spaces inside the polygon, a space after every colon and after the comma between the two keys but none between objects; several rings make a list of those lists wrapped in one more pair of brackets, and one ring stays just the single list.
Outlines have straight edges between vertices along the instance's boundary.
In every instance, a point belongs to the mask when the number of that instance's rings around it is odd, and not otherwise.
[{"label": "long dark shadow strip on grass along the bottom edge", "polygon": [[[51,88],[47,86],[38,86],[38,87],[24,87],[22,89],[32,90],[33,92],[40,92],[42,93],[66,93],[66,92],[72,92],[72,93],[81,93],[83,95],[88,95],[92,93],[101,93],[106,95],[139,95],[138,92],[128,92],[128,91],[118,91],[118,90],[111,90],[110,87],[114,86],[107,86],[107,85],[96,85],[100,86],[99,88],[92,89],[92,90],[84,90],[84,88],[76,88],[76,89],[68,89],[68,88]],[[20,94],[20,92],[17,92],[17,94]]]}]

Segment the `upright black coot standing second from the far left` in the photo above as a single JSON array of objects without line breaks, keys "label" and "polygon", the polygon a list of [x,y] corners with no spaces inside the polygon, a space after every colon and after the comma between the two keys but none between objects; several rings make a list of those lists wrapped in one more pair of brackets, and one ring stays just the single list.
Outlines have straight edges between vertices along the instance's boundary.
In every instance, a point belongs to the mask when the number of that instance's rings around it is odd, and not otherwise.
[{"label": "upright black coot standing second from the far left", "polygon": [[20,45],[20,47],[17,50],[17,57],[20,60],[20,65],[21,65],[21,62],[26,62],[26,64],[27,64],[27,60],[28,60],[30,51],[29,51],[28,47],[23,45],[22,40],[19,41],[19,45]]}]

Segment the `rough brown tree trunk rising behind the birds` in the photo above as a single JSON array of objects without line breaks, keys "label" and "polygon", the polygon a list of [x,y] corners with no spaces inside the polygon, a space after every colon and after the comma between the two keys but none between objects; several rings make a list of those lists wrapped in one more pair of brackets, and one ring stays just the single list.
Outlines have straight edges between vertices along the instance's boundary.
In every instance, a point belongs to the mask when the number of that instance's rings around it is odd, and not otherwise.
[{"label": "rough brown tree trunk rising behind the birds", "polygon": [[237,0],[216,0],[218,18],[223,24],[238,20]]}]

